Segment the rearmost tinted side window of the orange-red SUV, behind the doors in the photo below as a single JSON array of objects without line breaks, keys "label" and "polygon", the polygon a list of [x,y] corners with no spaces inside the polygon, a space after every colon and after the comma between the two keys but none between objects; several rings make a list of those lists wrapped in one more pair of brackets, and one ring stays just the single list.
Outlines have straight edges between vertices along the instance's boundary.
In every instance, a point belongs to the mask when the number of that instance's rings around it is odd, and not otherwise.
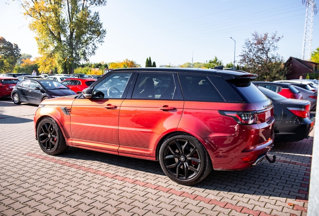
[{"label": "rearmost tinted side window of the orange-red SUV, behind the doors", "polygon": [[224,102],[225,100],[205,75],[180,74],[185,100]]}]

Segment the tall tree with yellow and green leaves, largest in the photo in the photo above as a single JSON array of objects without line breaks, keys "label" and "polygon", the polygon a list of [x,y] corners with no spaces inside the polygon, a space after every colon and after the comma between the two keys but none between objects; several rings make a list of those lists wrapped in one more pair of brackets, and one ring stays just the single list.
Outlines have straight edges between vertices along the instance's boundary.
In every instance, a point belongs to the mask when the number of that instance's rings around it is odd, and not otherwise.
[{"label": "tall tree with yellow and green leaves, largest in the photo", "polygon": [[[106,0],[22,0],[44,62],[55,63],[49,66],[56,66],[60,72],[72,73],[80,61],[94,55],[106,30],[99,12],[90,8],[102,5]],[[48,64],[40,67],[47,68]]]}]

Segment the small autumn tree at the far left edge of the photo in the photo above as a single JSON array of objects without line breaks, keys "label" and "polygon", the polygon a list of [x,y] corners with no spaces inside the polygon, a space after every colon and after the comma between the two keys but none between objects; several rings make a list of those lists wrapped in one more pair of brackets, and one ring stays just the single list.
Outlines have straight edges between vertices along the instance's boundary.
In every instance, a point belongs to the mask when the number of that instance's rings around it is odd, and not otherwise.
[{"label": "small autumn tree at the far left edge of the photo", "polygon": [[16,43],[0,37],[0,73],[12,72],[21,56],[20,48]]}]

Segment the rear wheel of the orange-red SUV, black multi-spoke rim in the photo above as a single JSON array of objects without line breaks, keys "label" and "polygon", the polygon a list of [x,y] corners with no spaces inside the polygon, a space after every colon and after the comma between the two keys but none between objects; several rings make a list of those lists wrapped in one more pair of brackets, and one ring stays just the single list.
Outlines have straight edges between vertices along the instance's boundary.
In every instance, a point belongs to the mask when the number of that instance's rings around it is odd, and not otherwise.
[{"label": "rear wheel of the orange-red SUV, black multi-spoke rim", "polygon": [[212,170],[203,144],[185,133],[175,133],[165,139],[159,148],[159,163],[169,178],[184,185],[200,182]]}]

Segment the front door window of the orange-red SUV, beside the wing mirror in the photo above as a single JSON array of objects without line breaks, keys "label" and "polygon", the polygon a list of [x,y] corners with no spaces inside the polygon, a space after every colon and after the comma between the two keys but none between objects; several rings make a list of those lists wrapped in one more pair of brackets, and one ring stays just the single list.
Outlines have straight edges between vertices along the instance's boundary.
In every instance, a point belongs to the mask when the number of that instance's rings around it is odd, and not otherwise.
[{"label": "front door window of the orange-red SUV, beside the wing mirror", "polygon": [[106,76],[92,89],[92,98],[122,98],[132,73],[113,73]]}]

